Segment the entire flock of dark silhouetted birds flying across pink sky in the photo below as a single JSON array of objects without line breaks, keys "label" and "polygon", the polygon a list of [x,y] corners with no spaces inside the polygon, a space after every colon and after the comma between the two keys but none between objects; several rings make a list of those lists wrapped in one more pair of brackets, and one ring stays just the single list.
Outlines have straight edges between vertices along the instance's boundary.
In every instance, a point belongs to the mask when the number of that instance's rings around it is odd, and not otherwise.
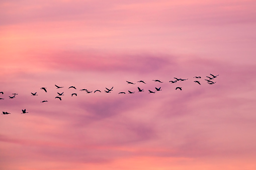
[{"label": "entire flock of dark silhouetted birds flying across pink sky", "polygon": [[[211,76],[211,77],[206,76],[208,79],[204,79],[204,80],[205,80],[209,85],[215,84],[216,82],[214,82],[214,79],[215,79],[217,76],[219,76],[219,75],[216,75],[216,76],[215,76],[215,75],[213,75],[213,74],[210,74],[210,76]],[[201,85],[201,83],[200,83],[199,80],[200,80],[202,77],[196,76],[196,77],[193,77],[193,78],[196,79],[196,80],[194,81],[195,83]],[[182,78],[176,78],[176,77],[174,77],[174,79],[175,79],[175,80],[169,81],[169,83],[177,83],[178,81],[185,81],[185,80],[188,80],[188,79],[182,79]],[[163,82],[160,81],[160,80],[152,80],[152,81],[154,81],[154,82],[159,82],[159,83],[163,83]],[[129,81],[126,81],[126,82],[127,82],[128,84],[136,84],[136,83],[129,82]],[[137,81],[137,83],[144,83],[144,84],[146,84],[146,83],[145,83],[144,81],[142,81],[142,80]],[[61,86],[57,86],[56,84],[55,84],[55,87],[56,87],[57,89],[64,88],[64,87],[61,87]],[[68,89],[70,89],[70,88],[76,89],[74,86],[68,87]],[[114,87],[112,87],[112,88],[107,88],[107,87],[105,87],[105,88],[106,88],[106,90],[104,90],[105,93],[111,93],[111,91],[113,91],[113,88],[114,88]],[[144,89],[141,89],[141,88],[139,88],[139,87],[137,87],[137,88],[138,88],[138,92],[143,92],[143,91],[144,91]],[[41,87],[40,89],[41,89],[41,90],[44,90],[45,92],[47,92],[46,87]],[[178,90],[178,89],[179,89],[179,90],[182,90],[182,87],[176,87],[175,89],[176,89],[176,90]],[[161,90],[161,87],[159,87],[159,88],[155,87],[155,91],[148,90],[148,92],[149,92],[149,93],[155,93],[156,91],[160,91],[160,90]],[[100,90],[90,91],[90,90],[87,90],[87,89],[81,89],[81,90],[79,90],[79,91],[85,91],[86,93],[93,93],[93,92],[94,92],[94,93],[96,93],[96,92],[101,93]],[[64,92],[62,92],[62,93],[57,92],[58,96],[56,96],[55,99],[61,100],[61,96],[64,95],[63,93],[64,93]],[[129,93],[129,94],[132,94],[132,93],[135,93],[135,92],[128,90],[128,93]],[[0,92],[0,94],[4,94],[4,92]],[[126,92],[119,92],[118,94],[126,94]],[[14,98],[16,97],[16,95],[18,95],[18,94],[17,94],[17,93],[12,93],[12,95],[13,95],[13,96],[9,96],[9,99],[14,99]],[[32,96],[38,96],[37,92],[31,93],[31,95],[32,95]],[[77,96],[77,93],[72,93],[71,96]],[[4,100],[4,98],[1,98],[1,96],[0,96],[0,100]],[[47,100],[41,101],[41,103],[44,103],[44,102],[48,102],[48,101],[47,101]],[[21,114],[24,114],[24,113],[28,113],[28,112],[26,112],[26,109],[24,109],[24,110],[22,109],[22,113],[21,113]],[[9,113],[9,112],[4,112],[4,111],[3,111],[2,114],[11,114],[11,113]]]}]

